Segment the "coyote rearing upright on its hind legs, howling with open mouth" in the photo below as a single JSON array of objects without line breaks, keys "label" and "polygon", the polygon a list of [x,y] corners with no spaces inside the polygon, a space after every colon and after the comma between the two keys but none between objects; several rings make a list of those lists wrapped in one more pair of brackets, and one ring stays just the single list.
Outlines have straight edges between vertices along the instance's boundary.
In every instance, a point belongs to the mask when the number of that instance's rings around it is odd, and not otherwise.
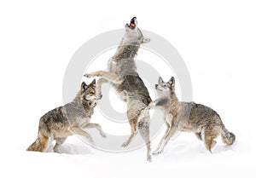
[{"label": "coyote rearing upright on its hind legs, howling with open mouth", "polygon": [[100,77],[97,82],[97,93],[101,95],[102,83],[111,83],[119,94],[121,100],[127,103],[127,117],[131,125],[131,135],[121,146],[129,145],[137,135],[137,129],[143,137],[147,146],[147,159],[151,161],[151,150],[149,140],[149,112],[139,114],[143,108],[151,102],[143,80],[137,73],[135,56],[142,43],[150,40],[143,37],[143,33],[137,27],[137,18],[131,19],[130,25],[125,25],[125,36],[119,44],[115,55],[108,60],[108,70],[85,74],[87,78]]}]

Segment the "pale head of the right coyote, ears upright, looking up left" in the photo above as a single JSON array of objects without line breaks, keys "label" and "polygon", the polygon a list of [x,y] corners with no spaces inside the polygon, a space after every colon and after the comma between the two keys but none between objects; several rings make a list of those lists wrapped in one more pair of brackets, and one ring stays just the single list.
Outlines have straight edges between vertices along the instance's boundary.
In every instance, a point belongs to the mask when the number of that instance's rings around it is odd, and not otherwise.
[{"label": "pale head of the right coyote, ears upright, looking up left", "polygon": [[175,92],[175,78],[171,78],[168,82],[164,82],[160,77],[158,79],[158,84],[155,84],[155,89],[159,92],[164,92],[166,94],[172,94]]}]

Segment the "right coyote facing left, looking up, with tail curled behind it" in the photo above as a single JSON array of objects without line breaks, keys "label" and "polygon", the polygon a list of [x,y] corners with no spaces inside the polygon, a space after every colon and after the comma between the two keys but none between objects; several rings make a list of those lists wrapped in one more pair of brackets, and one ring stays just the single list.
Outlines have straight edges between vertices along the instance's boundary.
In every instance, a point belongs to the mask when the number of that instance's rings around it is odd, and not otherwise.
[{"label": "right coyote facing left, looking up, with tail curled behind it", "polygon": [[173,77],[167,83],[162,78],[159,78],[155,89],[158,91],[160,98],[152,101],[146,109],[160,106],[160,109],[165,114],[167,129],[166,134],[153,154],[163,152],[167,142],[177,130],[195,133],[195,136],[204,142],[210,152],[212,152],[212,147],[216,144],[214,139],[218,135],[221,135],[222,141],[227,145],[232,145],[236,140],[236,136],[225,128],[218,113],[210,107],[196,104],[195,102],[178,101]]}]

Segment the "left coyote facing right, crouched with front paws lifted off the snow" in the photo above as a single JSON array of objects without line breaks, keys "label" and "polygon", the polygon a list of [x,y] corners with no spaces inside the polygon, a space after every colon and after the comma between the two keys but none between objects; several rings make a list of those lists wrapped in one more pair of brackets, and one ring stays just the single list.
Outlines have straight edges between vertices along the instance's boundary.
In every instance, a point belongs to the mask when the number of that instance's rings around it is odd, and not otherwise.
[{"label": "left coyote facing right, crouched with front paws lifted off the snow", "polygon": [[96,128],[103,137],[106,137],[98,123],[90,123],[96,100],[96,80],[89,85],[82,83],[78,95],[72,102],[44,114],[39,121],[38,139],[26,150],[46,152],[49,143],[54,139],[55,152],[60,152],[60,146],[70,135],[83,135],[93,144],[91,136],[85,128]]}]

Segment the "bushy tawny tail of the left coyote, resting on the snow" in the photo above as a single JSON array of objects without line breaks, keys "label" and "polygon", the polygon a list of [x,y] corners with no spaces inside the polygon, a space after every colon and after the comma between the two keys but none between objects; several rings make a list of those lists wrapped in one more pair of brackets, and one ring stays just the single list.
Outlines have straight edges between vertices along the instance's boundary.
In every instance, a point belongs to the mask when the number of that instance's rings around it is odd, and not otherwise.
[{"label": "bushy tawny tail of the left coyote, resting on the snow", "polygon": [[49,142],[49,130],[45,123],[39,123],[38,138],[26,151],[45,152]]}]

